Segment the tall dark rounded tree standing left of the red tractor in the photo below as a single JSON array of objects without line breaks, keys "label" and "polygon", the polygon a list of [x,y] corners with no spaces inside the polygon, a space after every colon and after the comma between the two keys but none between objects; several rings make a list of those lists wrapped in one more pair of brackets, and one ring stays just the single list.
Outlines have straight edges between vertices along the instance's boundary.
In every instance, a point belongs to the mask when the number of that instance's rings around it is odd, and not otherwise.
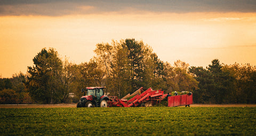
[{"label": "tall dark rounded tree standing left of the red tractor", "polygon": [[62,61],[58,52],[42,49],[33,59],[34,66],[28,67],[27,87],[32,98],[39,103],[58,103],[63,97],[61,76]]}]

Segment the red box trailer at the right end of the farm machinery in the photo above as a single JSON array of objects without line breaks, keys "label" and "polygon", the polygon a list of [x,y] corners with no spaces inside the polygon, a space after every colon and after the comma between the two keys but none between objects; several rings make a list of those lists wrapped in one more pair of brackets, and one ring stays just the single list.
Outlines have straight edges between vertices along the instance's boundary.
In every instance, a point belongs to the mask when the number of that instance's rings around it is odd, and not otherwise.
[{"label": "red box trailer at the right end of the farm machinery", "polygon": [[188,106],[193,103],[193,94],[168,97],[168,107]]}]

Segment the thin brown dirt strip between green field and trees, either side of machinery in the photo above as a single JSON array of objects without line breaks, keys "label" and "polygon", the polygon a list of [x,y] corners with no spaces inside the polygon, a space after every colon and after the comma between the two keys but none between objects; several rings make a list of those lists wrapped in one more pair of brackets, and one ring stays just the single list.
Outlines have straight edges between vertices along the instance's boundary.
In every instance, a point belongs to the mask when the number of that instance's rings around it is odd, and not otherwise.
[{"label": "thin brown dirt strip between green field and trees, either side of machinery", "polygon": [[[190,107],[256,107],[256,105],[200,105],[194,104]],[[0,108],[76,108],[76,104],[61,104],[61,105],[0,105]]]}]

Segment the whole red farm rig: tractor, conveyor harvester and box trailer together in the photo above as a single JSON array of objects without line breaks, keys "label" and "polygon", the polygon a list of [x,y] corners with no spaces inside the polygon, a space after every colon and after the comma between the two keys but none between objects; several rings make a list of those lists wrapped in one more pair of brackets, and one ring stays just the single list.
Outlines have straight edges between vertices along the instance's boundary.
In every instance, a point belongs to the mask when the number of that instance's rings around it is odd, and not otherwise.
[{"label": "whole red farm rig: tractor, conveyor harvester and box trailer together", "polygon": [[[167,94],[162,90],[145,89],[141,87],[124,98],[104,95],[105,87],[86,87],[84,96],[77,103],[77,107],[148,107],[161,102]],[[85,95],[85,91],[87,94]],[[130,98],[127,100],[127,98]],[[192,94],[168,97],[168,107],[189,106],[193,103]]]}]

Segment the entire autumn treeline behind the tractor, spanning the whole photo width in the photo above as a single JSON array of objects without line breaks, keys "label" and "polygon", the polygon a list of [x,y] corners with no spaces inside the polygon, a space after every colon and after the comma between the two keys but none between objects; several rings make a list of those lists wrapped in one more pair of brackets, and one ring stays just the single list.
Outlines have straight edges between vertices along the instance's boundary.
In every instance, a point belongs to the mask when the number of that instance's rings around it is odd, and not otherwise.
[{"label": "entire autumn treeline behind the tractor, spanning the whole photo width", "polygon": [[61,60],[52,48],[42,49],[26,75],[0,79],[0,103],[77,102],[87,86],[106,86],[119,98],[152,87],[193,92],[195,103],[256,102],[256,68],[250,65],[221,65],[217,59],[206,69],[180,60],[171,65],[135,39],[97,44],[94,53],[89,62],[75,64]]}]

